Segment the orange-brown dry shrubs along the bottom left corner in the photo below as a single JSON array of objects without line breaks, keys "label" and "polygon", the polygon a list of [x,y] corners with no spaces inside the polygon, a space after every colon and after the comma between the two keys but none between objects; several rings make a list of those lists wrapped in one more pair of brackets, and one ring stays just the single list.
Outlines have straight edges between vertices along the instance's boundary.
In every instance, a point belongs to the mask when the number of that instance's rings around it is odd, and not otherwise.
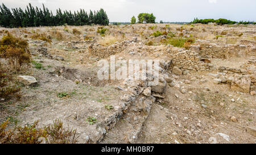
[{"label": "orange-brown dry shrubs along the bottom left corner", "polygon": [[15,127],[7,131],[6,127],[9,124],[10,121],[7,120],[0,125],[1,144],[77,143],[76,129],[64,129],[60,120],[55,120],[52,125],[44,126],[44,128],[37,128],[38,122],[35,122],[32,125]]}]

